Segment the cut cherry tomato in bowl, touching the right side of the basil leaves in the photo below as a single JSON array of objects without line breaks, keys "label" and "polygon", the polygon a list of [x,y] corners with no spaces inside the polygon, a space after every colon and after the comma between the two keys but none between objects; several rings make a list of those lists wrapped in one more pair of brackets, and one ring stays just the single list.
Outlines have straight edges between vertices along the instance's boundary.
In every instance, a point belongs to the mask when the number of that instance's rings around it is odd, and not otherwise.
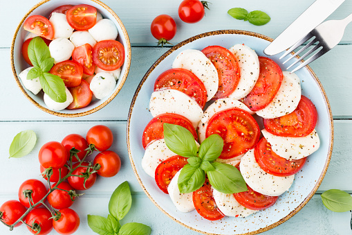
[{"label": "cut cherry tomato in bowl, touching the right side of the basil leaves", "polygon": [[55,64],[49,73],[62,78],[66,87],[77,87],[81,84],[83,68],[73,60],[66,60]]}]

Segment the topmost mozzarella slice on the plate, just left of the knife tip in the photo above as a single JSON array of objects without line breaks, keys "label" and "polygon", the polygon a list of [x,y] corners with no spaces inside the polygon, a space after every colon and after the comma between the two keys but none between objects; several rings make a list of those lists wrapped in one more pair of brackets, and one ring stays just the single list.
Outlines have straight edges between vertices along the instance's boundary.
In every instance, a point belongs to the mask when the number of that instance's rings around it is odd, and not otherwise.
[{"label": "topmost mozzarella slice on the plate, just left of the knife tip", "polygon": [[243,44],[232,46],[230,51],[239,62],[241,78],[236,89],[229,97],[239,100],[250,93],[259,78],[259,59],[254,50]]}]

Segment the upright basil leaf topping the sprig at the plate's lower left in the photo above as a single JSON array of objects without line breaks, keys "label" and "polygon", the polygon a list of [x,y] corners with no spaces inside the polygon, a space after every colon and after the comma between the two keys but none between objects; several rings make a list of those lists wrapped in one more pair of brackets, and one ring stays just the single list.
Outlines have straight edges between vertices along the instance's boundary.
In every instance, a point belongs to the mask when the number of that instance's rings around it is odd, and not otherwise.
[{"label": "upright basil leaf topping the sprig at the plate's lower left", "polygon": [[120,184],[109,201],[109,212],[117,220],[122,220],[129,212],[132,204],[131,191],[127,181]]}]

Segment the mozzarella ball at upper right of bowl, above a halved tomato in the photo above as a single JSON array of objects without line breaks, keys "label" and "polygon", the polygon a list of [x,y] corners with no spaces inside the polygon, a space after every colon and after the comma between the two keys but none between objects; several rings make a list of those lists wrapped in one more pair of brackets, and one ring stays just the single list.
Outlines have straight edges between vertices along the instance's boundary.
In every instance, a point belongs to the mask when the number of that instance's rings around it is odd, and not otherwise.
[{"label": "mozzarella ball at upper right of bowl, above a halved tomato", "polygon": [[116,28],[111,19],[101,19],[88,31],[97,42],[102,40],[116,40],[116,37],[118,37],[118,28]]}]

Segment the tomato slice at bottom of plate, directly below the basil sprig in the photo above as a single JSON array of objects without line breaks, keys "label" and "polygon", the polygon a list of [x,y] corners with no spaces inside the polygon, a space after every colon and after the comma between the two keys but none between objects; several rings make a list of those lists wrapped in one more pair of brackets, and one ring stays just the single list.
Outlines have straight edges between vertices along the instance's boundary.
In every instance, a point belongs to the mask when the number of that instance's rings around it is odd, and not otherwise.
[{"label": "tomato slice at bottom of plate, directly below the basil sprig", "polygon": [[203,218],[206,218],[207,220],[220,220],[224,217],[218,207],[216,207],[212,186],[210,185],[209,180],[206,179],[203,186],[193,192],[192,199],[196,211]]}]

